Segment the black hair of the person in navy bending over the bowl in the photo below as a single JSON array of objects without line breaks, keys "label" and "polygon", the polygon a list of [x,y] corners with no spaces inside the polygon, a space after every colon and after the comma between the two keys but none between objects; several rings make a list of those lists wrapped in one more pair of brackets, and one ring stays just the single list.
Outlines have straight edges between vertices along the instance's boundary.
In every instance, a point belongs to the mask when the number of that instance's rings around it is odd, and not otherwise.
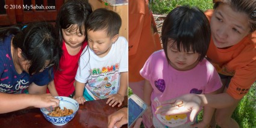
[{"label": "black hair of the person in navy bending over the bowl", "polygon": [[22,57],[30,61],[28,72],[30,75],[39,73],[46,61],[58,67],[61,47],[56,40],[54,26],[47,22],[29,23],[27,26],[10,26],[0,31],[0,38],[14,35],[13,47],[22,50]]}]

